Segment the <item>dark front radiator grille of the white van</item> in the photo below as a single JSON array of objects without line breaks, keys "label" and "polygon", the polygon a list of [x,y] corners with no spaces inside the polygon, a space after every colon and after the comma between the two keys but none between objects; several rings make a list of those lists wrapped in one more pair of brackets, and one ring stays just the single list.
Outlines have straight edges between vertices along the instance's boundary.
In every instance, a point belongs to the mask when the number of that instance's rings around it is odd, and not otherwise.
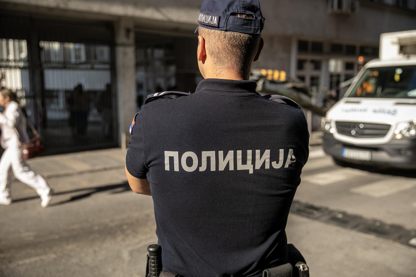
[{"label": "dark front radiator grille of the white van", "polygon": [[335,122],[337,132],[349,137],[385,137],[391,125],[362,122]]}]

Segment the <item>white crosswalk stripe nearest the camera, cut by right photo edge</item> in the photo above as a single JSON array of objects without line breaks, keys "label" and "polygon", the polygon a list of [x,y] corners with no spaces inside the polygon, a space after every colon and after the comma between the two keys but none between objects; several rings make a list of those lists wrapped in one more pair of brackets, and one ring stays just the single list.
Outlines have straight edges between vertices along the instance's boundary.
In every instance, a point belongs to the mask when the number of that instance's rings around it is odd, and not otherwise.
[{"label": "white crosswalk stripe nearest the camera, cut by right photo edge", "polygon": [[412,178],[396,177],[376,181],[374,183],[358,186],[351,192],[374,198],[380,198],[416,187],[416,180]]}]

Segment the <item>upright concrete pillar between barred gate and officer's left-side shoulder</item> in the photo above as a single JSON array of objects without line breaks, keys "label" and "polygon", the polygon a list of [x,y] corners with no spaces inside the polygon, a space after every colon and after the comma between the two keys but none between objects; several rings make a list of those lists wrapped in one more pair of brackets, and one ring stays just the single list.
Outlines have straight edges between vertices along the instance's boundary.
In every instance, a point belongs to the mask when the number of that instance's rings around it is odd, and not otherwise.
[{"label": "upright concrete pillar between barred gate and officer's left-side shoulder", "polygon": [[134,46],[134,22],[121,18],[114,23],[116,95],[118,105],[118,142],[126,149],[130,141],[131,120],[136,114],[136,55]]}]

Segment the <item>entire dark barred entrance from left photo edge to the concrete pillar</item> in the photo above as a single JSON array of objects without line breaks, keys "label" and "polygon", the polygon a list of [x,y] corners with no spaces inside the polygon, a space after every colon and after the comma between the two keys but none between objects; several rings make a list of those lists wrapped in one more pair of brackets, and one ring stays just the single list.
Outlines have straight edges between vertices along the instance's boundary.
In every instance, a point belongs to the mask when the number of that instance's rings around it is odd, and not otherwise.
[{"label": "entire dark barred entrance from left photo edge to the concrete pillar", "polygon": [[110,25],[0,19],[1,85],[16,91],[47,153],[114,147]]}]

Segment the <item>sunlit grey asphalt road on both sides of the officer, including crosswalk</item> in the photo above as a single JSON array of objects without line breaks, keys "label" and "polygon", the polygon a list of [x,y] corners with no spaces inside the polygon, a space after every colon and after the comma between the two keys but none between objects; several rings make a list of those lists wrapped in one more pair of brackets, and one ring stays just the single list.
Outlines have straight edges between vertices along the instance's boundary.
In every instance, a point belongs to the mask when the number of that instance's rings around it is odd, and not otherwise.
[{"label": "sunlit grey asphalt road on both sides of the officer, including crosswalk", "polygon": [[[316,148],[295,200],[305,211],[324,207],[416,229],[416,179],[388,173],[339,167]],[[129,191],[123,169],[48,181],[56,191],[48,208],[18,182],[15,202],[0,206],[0,276],[144,276],[146,248],[157,241],[153,206]],[[311,276],[416,276],[415,247],[310,214],[291,213],[287,236]]]}]

